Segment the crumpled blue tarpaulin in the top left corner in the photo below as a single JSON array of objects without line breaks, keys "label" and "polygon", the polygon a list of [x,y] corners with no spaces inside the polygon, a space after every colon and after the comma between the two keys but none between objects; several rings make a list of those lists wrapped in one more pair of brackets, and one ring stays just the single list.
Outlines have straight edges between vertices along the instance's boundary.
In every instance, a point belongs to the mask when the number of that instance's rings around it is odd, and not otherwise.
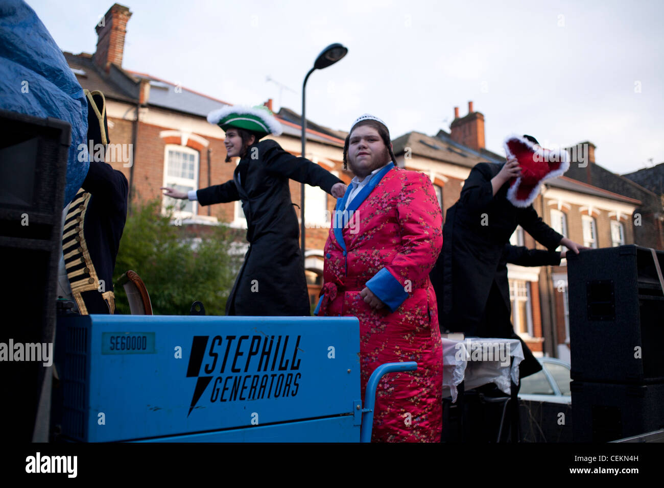
[{"label": "crumpled blue tarpaulin in the top left corner", "polygon": [[21,0],[0,0],[0,108],[72,125],[64,204],[80,188],[90,163],[79,161],[88,134],[88,104],[76,76],[46,27]]}]

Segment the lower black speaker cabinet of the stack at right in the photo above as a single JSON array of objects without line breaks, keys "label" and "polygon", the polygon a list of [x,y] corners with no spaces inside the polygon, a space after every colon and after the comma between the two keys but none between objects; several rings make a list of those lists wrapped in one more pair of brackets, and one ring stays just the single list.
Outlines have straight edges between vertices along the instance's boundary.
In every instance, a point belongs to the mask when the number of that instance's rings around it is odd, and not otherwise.
[{"label": "lower black speaker cabinet of the stack at right", "polygon": [[574,442],[609,442],[664,428],[664,383],[572,381]]}]

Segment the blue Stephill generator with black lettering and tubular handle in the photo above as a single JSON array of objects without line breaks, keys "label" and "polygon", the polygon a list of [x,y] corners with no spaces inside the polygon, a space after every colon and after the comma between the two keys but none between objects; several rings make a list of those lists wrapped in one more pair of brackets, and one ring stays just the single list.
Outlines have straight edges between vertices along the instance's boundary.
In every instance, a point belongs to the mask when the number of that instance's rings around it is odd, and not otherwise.
[{"label": "blue Stephill generator with black lettering and tubular handle", "polygon": [[363,406],[355,317],[59,317],[55,347],[74,442],[368,441],[378,380],[417,367],[377,368]]}]

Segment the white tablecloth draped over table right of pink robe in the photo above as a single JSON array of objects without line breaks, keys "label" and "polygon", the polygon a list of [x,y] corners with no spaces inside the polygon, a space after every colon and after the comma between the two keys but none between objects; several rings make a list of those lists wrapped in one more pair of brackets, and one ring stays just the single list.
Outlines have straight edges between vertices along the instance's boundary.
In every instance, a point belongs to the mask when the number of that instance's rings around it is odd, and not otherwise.
[{"label": "white tablecloth draped over table right of pink robe", "polygon": [[[505,394],[511,394],[511,380],[519,384],[519,364],[523,361],[523,347],[518,339],[487,339],[466,337],[463,341],[442,339],[443,398],[457,399],[457,386],[465,390],[487,383],[495,383]],[[513,357],[514,361],[510,361]],[[511,366],[510,366],[511,365]]]}]

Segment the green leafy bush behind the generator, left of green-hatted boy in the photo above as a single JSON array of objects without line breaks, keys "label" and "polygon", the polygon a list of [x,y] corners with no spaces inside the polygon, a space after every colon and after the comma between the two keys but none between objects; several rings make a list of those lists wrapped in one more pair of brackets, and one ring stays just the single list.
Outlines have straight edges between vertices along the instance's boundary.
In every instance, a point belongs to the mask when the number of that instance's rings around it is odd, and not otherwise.
[{"label": "green leafy bush behind the generator, left of green-hatted boy", "polygon": [[117,282],[133,270],[147,287],[155,315],[189,315],[195,300],[203,302],[207,315],[224,315],[240,267],[240,256],[229,253],[237,232],[223,225],[206,231],[194,236],[187,225],[173,225],[161,214],[158,199],[133,206],[114,272],[116,313],[129,314],[127,296]]}]

